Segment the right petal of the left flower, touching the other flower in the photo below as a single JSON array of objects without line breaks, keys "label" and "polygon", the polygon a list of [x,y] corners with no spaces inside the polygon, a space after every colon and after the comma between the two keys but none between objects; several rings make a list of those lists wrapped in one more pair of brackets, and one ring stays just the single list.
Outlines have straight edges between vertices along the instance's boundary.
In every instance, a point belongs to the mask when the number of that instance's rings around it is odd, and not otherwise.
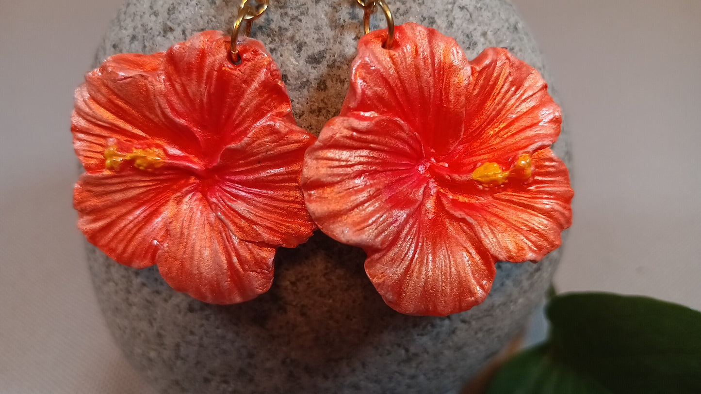
[{"label": "right petal of the left flower, touching the other flower", "polygon": [[304,152],[315,140],[287,120],[270,119],[224,150],[217,167],[221,181],[207,198],[236,237],[286,248],[311,237],[316,225],[299,178]]}]

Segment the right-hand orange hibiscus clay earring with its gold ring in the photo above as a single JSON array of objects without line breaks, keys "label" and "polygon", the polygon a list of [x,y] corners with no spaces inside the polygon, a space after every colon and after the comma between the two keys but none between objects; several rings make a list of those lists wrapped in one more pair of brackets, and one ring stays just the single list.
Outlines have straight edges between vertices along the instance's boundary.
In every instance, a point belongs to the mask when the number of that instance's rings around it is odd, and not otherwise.
[{"label": "right-hand orange hibiscus clay earring with its gold ring", "polygon": [[[302,189],[320,229],[367,252],[404,314],[481,303],[498,260],[537,261],[571,225],[562,123],[538,71],[503,48],[469,62],[453,38],[397,26],[358,0],[365,32],[341,114],[307,151]],[[376,8],[388,29],[369,32]]]}]

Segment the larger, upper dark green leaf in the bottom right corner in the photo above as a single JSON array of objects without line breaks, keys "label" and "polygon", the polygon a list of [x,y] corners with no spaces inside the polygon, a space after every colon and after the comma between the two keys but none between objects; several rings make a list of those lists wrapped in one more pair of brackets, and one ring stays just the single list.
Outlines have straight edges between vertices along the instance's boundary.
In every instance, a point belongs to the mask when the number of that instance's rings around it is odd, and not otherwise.
[{"label": "larger, upper dark green leaf in the bottom right corner", "polygon": [[701,313],[646,297],[554,297],[550,355],[616,394],[701,393]]}]

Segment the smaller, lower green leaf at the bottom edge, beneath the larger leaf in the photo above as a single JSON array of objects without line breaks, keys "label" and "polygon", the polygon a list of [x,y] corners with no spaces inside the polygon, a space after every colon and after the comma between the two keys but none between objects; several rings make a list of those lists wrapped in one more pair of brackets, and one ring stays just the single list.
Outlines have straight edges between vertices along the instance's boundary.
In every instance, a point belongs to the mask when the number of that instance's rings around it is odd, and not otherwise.
[{"label": "smaller, lower green leaf at the bottom edge, beneath the larger leaf", "polygon": [[487,394],[611,394],[548,354],[547,346],[512,358],[496,374]]}]

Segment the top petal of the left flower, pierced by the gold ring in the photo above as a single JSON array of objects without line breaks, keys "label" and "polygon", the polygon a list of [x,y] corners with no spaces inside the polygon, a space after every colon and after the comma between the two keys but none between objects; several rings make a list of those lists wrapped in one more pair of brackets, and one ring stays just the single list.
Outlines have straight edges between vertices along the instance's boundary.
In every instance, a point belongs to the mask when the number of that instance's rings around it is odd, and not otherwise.
[{"label": "top petal of the left flower, pierced by the gold ring", "polygon": [[216,160],[261,119],[292,119],[280,69],[259,41],[243,38],[240,64],[229,60],[231,38],[203,31],[165,52],[165,99],[173,115],[193,129],[203,155]]}]

